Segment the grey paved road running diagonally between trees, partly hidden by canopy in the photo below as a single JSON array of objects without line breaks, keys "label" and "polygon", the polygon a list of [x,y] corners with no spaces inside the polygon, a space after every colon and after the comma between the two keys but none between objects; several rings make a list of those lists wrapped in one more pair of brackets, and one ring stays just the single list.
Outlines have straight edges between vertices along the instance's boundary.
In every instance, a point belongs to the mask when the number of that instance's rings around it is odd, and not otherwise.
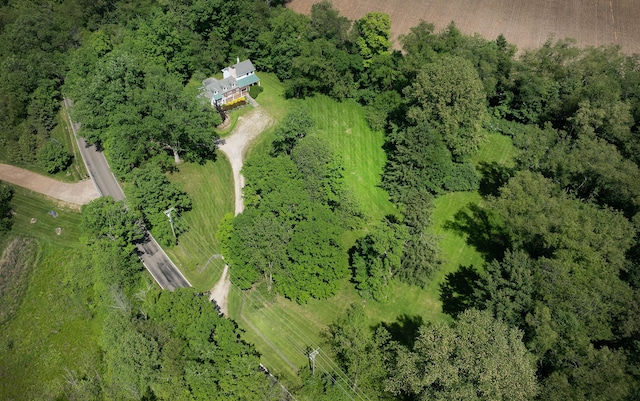
[{"label": "grey paved road running diagonally between trees, partly hidden by canopy", "polygon": [[[71,101],[65,99],[64,102],[67,106],[68,113]],[[68,114],[67,117],[69,117]],[[89,146],[84,138],[78,136],[77,131],[80,129],[80,124],[72,122],[71,117],[69,117],[69,122],[71,123],[74,136],[78,141],[78,148],[80,148],[84,164],[98,193],[102,196],[111,196],[115,200],[124,199],[124,192],[122,192],[120,184],[118,184],[118,181],[113,176],[102,151],[96,149],[95,145]],[[145,239],[136,244],[136,247],[138,249],[138,256],[140,260],[142,260],[144,267],[147,268],[161,288],[175,290],[176,288],[191,287],[191,283],[182,275],[176,265],[173,264],[151,233],[147,233]]]}]

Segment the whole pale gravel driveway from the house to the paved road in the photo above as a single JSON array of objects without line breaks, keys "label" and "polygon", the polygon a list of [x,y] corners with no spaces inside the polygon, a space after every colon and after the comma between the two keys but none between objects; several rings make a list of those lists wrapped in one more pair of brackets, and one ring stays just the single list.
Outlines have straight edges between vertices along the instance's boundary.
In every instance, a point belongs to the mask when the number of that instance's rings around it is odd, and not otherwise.
[{"label": "whole pale gravel driveway from the house to the paved road", "polygon": [[[244,210],[244,201],[242,199],[242,188],[244,187],[244,177],[240,174],[242,170],[242,164],[244,162],[244,155],[249,148],[251,142],[258,137],[269,125],[272,124],[272,119],[261,107],[257,106],[251,110],[248,114],[238,118],[236,127],[233,130],[233,134],[224,138],[221,141],[220,149],[229,159],[231,164],[231,170],[233,171],[233,183],[236,195],[236,209],[235,214],[238,215]],[[228,301],[229,290],[231,289],[231,280],[229,279],[229,266],[224,266],[222,277],[211,289],[211,295],[209,299],[215,300],[220,311],[225,316],[228,315]]]}]

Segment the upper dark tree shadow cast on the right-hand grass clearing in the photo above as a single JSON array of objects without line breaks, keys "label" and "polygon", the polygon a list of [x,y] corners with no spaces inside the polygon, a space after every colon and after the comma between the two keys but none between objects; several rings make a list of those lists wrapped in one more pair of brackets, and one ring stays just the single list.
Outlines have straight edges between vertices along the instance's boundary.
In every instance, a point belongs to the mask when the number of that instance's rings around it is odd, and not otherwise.
[{"label": "upper dark tree shadow cast on the right-hand grass clearing", "polygon": [[471,203],[444,223],[444,228],[465,236],[467,244],[475,247],[485,260],[502,260],[507,247],[507,235],[490,211]]}]

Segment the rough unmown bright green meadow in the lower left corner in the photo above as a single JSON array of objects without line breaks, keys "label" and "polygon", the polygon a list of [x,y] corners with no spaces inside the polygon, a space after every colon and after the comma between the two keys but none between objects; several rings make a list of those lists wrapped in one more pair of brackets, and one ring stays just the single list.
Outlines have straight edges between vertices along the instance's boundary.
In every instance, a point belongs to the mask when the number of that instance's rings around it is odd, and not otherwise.
[{"label": "rough unmown bright green meadow in the lower left corner", "polygon": [[1,327],[0,399],[54,399],[67,372],[98,366],[101,320],[63,284],[68,265],[81,263],[73,248],[41,244],[20,308]]}]

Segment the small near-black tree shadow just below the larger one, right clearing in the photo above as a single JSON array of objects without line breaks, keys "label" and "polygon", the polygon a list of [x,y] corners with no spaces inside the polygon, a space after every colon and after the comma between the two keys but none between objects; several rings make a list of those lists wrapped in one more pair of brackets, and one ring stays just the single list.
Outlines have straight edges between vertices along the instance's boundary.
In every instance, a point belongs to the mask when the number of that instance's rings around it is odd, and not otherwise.
[{"label": "small near-black tree shadow just below the larger one, right clearing", "polygon": [[457,317],[466,309],[475,307],[477,303],[475,289],[478,280],[480,280],[480,274],[473,266],[460,265],[457,271],[447,274],[444,282],[440,284],[442,311]]}]

